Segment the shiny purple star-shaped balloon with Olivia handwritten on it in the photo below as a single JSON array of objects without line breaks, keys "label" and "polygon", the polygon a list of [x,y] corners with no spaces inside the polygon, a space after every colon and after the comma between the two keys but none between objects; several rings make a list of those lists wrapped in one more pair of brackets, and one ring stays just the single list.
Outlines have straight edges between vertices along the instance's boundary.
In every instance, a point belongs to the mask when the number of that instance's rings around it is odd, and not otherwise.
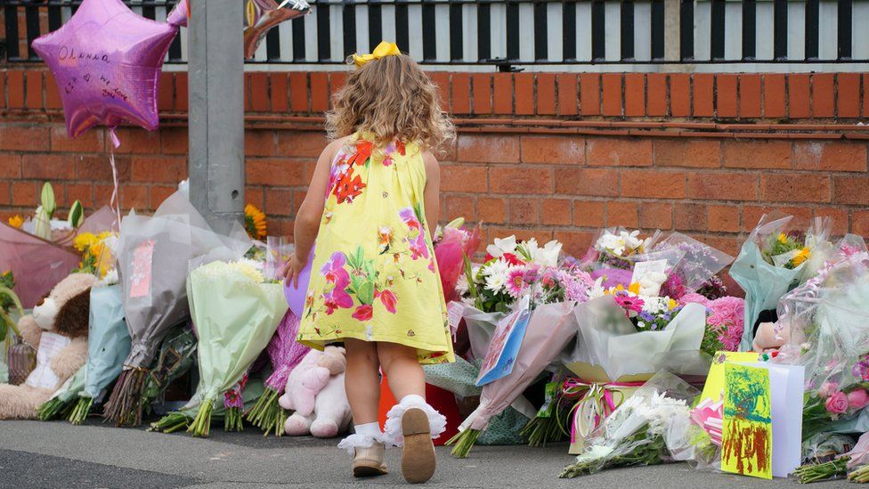
[{"label": "shiny purple star-shaped balloon with Olivia handwritten on it", "polygon": [[125,121],[157,129],[158,77],[181,19],[164,24],[121,0],[85,0],[61,29],[33,41],[57,82],[70,137]]}]

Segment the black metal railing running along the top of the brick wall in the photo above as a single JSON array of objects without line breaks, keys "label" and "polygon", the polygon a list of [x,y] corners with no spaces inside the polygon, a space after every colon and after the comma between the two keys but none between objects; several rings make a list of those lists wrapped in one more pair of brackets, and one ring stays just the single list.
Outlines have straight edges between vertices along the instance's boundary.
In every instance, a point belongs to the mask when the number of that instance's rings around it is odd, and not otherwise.
[{"label": "black metal railing running along the top of the brick wall", "polygon": [[[165,20],[176,0],[126,4]],[[249,63],[338,64],[384,38],[429,65],[643,65],[869,61],[869,0],[311,0],[272,29]],[[80,0],[0,0],[4,59],[38,61],[30,43]],[[240,0],[241,4],[241,0]],[[241,7],[240,7],[241,8]],[[668,29],[672,30],[670,32]],[[185,31],[167,62],[184,63]],[[668,43],[675,45],[668,45]],[[670,49],[668,49],[670,48]],[[584,68],[579,68],[584,69]]]}]

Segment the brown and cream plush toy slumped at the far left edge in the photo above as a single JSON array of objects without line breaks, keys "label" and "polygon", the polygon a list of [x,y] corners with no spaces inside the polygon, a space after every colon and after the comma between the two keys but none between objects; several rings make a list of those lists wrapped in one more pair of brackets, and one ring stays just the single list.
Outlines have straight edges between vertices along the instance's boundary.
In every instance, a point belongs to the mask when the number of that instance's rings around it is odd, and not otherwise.
[{"label": "brown and cream plush toy slumped at the far left edge", "polygon": [[37,350],[37,367],[20,386],[0,384],[0,420],[35,420],[48,401],[87,360],[91,287],[97,278],[73,273],[18,322],[21,337]]}]

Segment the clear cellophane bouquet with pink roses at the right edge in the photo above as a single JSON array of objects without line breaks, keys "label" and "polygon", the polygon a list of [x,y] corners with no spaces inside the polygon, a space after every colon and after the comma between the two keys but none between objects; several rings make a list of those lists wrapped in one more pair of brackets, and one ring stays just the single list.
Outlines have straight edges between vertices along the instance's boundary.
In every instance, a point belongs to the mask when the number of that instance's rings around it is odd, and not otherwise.
[{"label": "clear cellophane bouquet with pink roses at the right edge", "polygon": [[829,260],[779,305],[775,361],[805,366],[803,438],[838,431],[869,404],[869,254]]}]

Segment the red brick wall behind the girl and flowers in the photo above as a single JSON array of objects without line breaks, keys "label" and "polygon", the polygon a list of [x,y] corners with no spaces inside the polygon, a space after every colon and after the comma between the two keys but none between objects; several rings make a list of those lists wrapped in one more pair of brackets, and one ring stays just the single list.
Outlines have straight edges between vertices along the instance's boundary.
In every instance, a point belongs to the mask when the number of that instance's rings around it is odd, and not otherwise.
[{"label": "red brick wall behind the girl and flowers", "polygon": [[[735,253],[770,208],[832,216],[869,234],[866,74],[433,73],[459,139],[443,155],[443,217],[491,235],[564,240],[601,226],[676,229]],[[248,202],[292,232],[322,111],[342,73],[248,73]],[[42,181],[61,207],[111,193],[107,134],[70,140],[41,69],[0,71],[0,216],[28,212]],[[122,128],[124,208],[150,210],[187,173],[185,73],[160,80],[163,127]]]}]

